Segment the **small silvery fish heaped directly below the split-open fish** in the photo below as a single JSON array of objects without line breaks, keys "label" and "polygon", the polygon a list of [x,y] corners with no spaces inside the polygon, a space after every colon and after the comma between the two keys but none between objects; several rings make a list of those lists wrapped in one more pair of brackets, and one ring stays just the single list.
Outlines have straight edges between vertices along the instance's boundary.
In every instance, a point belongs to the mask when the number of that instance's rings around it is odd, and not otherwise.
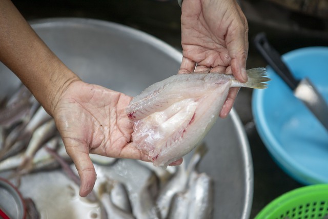
[{"label": "small silvery fish heaped directly below the split-open fish", "polygon": [[[139,184],[131,181],[135,171],[125,173],[116,180],[104,180],[115,174],[99,175],[96,193],[100,197],[109,218],[114,219],[210,219],[213,216],[214,185],[206,173],[199,173],[197,166],[206,151],[201,145],[186,166],[169,167],[164,170],[151,163],[130,161],[129,166],[145,166],[150,174]],[[137,164],[133,164],[133,162]],[[116,167],[124,164],[116,163]],[[98,180],[98,179],[97,179]],[[137,183],[136,183],[137,182]],[[118,191],[117,191],[118,190]],[[125,191],[123,191],[125,190]]]}]

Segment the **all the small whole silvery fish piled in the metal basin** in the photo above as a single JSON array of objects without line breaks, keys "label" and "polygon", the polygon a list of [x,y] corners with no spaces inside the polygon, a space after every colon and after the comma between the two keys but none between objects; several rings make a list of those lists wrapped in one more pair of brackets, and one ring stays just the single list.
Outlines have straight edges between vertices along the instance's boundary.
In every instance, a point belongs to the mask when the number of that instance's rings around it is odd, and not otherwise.
[{"label": "all the small whole silvery fish piled in the metal basin", "polygon": [[[197,170],[205,152],[206,147],[200,145],[188,164],[167,169],[147,162],[102,160],[90,155],[95,162],[97,182],[87,198],[98,203],[103,212],[92,218],[212,218],[213,182]],[[12,96],[0,100],[0,175],[10,172],[10,177],[19,178],[40,170],[51,174],[58,167],[63,168],[73,184],[79,184],[54,120],[22,85]],[[135,175],[142,168],[149,174],[140,174],[144,182],[139,184]],[[122,172],[131,177],[120,175]],[[37,208],[40,201],[33,201]]]}]

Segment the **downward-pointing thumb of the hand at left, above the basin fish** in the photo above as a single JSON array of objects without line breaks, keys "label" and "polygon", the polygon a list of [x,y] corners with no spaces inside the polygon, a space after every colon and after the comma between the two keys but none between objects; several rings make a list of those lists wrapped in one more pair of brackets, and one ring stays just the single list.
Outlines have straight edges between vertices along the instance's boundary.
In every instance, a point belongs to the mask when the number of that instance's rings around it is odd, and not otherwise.
[{"label": "downward-pointing thumb of the hand at left, above the basin fish", "polygon": [[80,177],[80,196],[87,196],[96,182],[96,171],[89,156],[87,146],[75,141],[64,141],[67,154],[72,158]]}]

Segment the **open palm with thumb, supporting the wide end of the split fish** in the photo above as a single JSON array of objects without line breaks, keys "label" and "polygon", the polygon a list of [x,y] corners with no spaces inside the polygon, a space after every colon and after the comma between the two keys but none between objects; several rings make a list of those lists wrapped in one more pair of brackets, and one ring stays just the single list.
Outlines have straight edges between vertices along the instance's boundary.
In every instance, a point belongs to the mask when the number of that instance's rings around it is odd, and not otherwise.
[{"label": "open palm with thumb, supporting the wide end of the split fish", "polygon": [[80,176],[80,196],[88,195],[96,172],[90,153],[148,161],[132,143],[132,124],[125,108],[131,97],[82,81],[71,83],[53,110],[66,151]]}]

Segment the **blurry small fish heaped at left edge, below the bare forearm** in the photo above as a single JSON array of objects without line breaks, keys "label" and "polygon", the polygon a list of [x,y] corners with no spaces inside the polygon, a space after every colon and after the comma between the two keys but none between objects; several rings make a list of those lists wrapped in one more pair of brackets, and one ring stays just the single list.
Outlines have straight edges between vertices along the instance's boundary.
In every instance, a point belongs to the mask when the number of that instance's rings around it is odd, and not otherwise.
[{"label": "blurry small fish heaped at left edge, below the bare forearm", "polygon": [[24,85],[0,106],[0,171],[26,174],[58,167],[43,146],[68,158],[54,120]]}]

